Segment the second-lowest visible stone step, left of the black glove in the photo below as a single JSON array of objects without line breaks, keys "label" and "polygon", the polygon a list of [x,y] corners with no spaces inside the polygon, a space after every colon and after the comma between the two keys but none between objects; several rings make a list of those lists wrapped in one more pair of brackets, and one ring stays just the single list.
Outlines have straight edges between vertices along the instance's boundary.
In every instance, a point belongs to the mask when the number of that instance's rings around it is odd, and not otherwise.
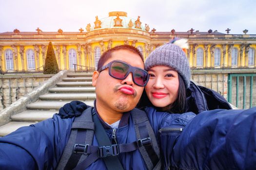
[{"label": "second-lowest visible stone step, left of the black glove", "polygon": [[42,121],[48,118],[52,118],[58,110],[26,110],[17,115],[11,116],[13,121]]}]

